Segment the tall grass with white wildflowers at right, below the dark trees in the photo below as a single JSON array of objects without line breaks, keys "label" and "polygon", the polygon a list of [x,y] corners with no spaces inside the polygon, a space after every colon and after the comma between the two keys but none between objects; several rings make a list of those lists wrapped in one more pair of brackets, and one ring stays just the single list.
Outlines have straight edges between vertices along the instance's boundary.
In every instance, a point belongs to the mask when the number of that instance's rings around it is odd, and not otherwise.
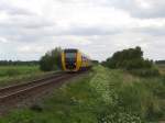
[{"label": "tall grass with white wildflowers at right, below the dark trees", "polygon": [[162,77],[141,78],[101,66],[97,71],[90,83],[109,107],[100,116],[105,122],[139,123],[158,121],[165,116],[162,103],[165,82]]}]

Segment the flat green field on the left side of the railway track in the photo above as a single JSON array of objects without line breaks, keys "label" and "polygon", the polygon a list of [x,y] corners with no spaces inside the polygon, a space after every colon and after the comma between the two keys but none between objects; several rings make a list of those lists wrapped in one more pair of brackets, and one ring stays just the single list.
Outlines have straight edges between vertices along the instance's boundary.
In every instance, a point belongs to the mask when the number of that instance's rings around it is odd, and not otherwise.
[{"label": "flat green field on the left side of the railway track", "polygon": [[45,75],[38,66],[0,66],[0,87],[25,82]]}]

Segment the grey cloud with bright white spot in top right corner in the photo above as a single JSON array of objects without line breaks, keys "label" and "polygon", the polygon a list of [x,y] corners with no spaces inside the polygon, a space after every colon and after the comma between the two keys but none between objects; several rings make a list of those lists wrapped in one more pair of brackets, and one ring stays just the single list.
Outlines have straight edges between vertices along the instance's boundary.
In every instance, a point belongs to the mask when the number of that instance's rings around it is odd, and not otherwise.
[{"label": "grey cloud with bright white spot in top right corner", "polygon": [[164,0],[111,0],[107,1],[105,5],[111,5],[128,11],[133,18],[165,18]]}]

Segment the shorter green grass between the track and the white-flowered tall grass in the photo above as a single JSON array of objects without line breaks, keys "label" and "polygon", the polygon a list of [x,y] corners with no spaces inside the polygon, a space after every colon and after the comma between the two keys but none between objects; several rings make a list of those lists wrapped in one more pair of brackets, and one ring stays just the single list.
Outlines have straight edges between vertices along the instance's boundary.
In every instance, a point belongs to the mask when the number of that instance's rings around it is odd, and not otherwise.
[{"label": "shorter green grass between the track and the white-flowered tall grass", "polygon": [[[35,108],[11,112],[0,123],[92,123],[97,122],[98,96],[88,87],[91,74],[56,89],[54,94]],[[37,108],[36,108],[37,105]],[[35,109],[42,110],[35,110]]]}]

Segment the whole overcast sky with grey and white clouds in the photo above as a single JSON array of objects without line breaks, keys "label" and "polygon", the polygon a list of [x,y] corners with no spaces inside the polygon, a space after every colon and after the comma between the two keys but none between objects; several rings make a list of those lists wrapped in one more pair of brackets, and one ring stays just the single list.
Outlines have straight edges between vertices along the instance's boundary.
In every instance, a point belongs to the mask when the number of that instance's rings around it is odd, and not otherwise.
[{"label": "whole overcast sky with grey and white clouds", "polygon": [[58,46],[98,60],[141,46],[165,59],[165,0],[0,0],[0,60],[37,60]]}]

